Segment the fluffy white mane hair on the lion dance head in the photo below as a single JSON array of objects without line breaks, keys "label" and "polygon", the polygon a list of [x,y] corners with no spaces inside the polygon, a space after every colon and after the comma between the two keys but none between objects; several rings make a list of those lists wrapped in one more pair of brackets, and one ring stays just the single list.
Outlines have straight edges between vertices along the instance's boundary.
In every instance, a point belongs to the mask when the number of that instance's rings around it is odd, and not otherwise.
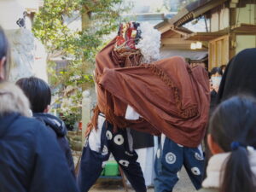
[{"label": "fluffy white mane hair on the lion dance head", "polygon": [[143,54],[144,62],[150,63],[160,59],[160,32],[148,22],[141,23],[142,39],[137,44]]}]

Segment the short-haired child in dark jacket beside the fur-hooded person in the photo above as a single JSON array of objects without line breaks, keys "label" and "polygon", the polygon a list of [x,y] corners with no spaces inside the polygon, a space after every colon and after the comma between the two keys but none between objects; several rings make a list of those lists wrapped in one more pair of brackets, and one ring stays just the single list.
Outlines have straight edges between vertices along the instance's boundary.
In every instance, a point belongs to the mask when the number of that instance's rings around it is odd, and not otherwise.
[{"label": "short-haired child in dark jacket beside the fur-hooded person", "polygon": [[67,141],[67,128],[61,119],[54,115],[47,113],[49,111],[49,104],[51,102],[51,91],[49,85],[43,79],[36,77],[19,79],[16,82],[24,91],[25,95],[31,103],[33,117],[42,121],[44,125],[50,128],[57,138],[58,143],[64,152],[70,172],[74,174],[74,164],[71,149]]}]

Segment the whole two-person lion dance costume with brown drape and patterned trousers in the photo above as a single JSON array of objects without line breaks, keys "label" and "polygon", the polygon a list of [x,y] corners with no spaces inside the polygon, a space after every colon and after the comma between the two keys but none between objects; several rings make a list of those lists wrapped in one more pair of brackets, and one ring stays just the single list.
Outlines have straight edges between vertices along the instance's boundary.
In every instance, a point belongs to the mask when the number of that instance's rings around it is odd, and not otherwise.
[{"label": "whole two-person lion dance costume with brown drape and patterned trousers", "polygon": [[130,129],[166,136],[155,160],[156,191],[172,191],[183,165],[195,188],[201,186],[203,155],[198,146],[209,110],[207,72],[189,67],[182,57],[156,61],[160,44],[150,43],[151,33],[154,29],[147,26],[123,23],[118,37],[96,55],[97,106],[79,169],[82,192],[96,182],[110,153],[131,186],[137,192],[147,190]]}]

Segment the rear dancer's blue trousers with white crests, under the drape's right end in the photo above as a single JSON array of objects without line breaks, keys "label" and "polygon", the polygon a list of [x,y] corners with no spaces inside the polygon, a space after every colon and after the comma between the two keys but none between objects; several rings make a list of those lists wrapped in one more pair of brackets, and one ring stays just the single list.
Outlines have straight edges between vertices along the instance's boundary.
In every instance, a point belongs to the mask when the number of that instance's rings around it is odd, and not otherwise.
[{"label": "rear dancer's blue trousers with white crests, under the drape's right end", "polygon": [[195,189],[200,189],[204,170],[201,147],[183,147],[166,137],[160,144],[154,162],[154,191],[171,192],[179,179],[182,166],[188,172]]}]

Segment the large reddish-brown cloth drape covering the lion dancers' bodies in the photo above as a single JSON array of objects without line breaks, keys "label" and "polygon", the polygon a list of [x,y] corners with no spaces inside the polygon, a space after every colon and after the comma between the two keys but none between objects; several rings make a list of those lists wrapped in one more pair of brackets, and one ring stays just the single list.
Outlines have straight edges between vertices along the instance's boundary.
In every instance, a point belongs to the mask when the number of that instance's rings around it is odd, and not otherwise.
[{"label": "large reddish-brown cloth drape covering the lion dancers' bodies", "polygon": [[[209,111],[207,72],[191,69],[181,57],[120,68],[112,59],[114,42],[96,56],[98,111],[116,127],[163,132],[176,143],[197,147]],[[128,104],[143,118],[125,120]]]}]

